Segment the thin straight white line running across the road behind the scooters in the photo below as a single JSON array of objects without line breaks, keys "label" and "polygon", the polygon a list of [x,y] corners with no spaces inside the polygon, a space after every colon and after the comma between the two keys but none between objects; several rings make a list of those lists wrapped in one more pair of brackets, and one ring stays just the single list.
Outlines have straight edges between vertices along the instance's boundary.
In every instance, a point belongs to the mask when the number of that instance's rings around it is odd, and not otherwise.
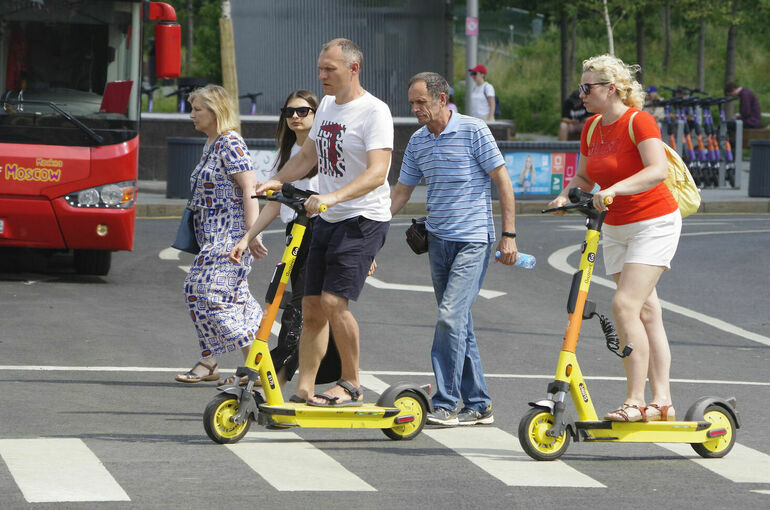
[{"label": "thin straight white line running across the road behind the scooters", "polygon": [[[275,331],[275,325],[273,326]],[[220,370],[228,368],[220,366]],[[187,367],[74,367],[74,366],[52,366],[52,365],[0,365],[0,371],[18,371],[18,372],[186,372]],[[433,372],[402,372],[398,370],[361,370],[361,376],[371,375],[397,375],[405,377],[433,377]],[[484,374],[484,377],[490,379],[540,379],[553,380],[553,374]],[[588,381],[625,381],[625,377],[614,376],[584,376]],[[770,382],[765,381],[726,381],[720,379],[671,379],[673,383],[685,384],[729,384],[734,386],[770,386]]]}]

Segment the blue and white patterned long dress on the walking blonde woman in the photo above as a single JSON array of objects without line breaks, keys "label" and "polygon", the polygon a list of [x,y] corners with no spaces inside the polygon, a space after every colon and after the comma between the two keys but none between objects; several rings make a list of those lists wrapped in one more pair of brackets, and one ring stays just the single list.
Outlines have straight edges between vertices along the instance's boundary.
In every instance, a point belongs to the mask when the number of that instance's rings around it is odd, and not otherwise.
[{"label": "blue and white patterned long dress on the walking blonde woman", "polygon": [[250,171],[246,143],[229,131],[204,148],[190,177],[191,188],[197,178],[191,204],[201,251],[185,278],[184,293],[204,358],[250,345],[262,319],[246,280],[253,257],[245,252],[241,264],[227,258],[247,230],[243,191],[233,174]]}]

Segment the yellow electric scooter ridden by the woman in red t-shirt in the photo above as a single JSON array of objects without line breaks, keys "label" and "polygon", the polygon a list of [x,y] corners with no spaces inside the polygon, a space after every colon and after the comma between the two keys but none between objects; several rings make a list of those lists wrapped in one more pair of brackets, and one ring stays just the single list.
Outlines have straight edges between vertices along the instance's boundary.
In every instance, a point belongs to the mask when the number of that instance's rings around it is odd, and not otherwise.
[{"label": "yellow electric scooter ridden by the woman in red t-shirt", "polygon": [[[567,301],[569,318],[556,377],[548,384],[547,398],[530,402],[532,409],[519,422],[519,442],[522,448],[535,460],[554,460],[564,454],[570,440],[690,443],[702,457],[724,457],[732,449],[740,427],[735,398],[702,397],[688,409],[684,421],[613,422],[599,420],[597,417],[576,355],[583,319],[599,317],[607,347],[618,356],[628,356],[633,347],[627,345],[620,351],[612,322],[598,314],[595,303],[586,299],[599,246],[599,232],[606,212],[594,209],[593,195],[578,188],[570,190],[569,198],[570,204],[543,212],[577,211],[586,217],[588,231],[582,246],[580,266],[572,278]],[[572,396],[578,421],[568,421],[566,418],[567,393]]]}]

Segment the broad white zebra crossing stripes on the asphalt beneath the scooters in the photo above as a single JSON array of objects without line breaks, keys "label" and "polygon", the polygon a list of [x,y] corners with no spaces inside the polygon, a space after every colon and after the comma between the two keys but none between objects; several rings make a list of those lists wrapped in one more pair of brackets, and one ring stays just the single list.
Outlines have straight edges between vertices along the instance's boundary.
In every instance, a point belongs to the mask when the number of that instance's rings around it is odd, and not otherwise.
[{"label": "broad white zebra crossing stripes on the asphalt beneath the scooters", "polygon": [[[257,479],[261,478],[279,492],[378,491],[376,481],[365,480],[366,475],[352,472],[333,452],[325,452],[323,443],[313,444],[294,431],[255,430],[239,443],[224,447],[224,451],[232,455],[232,458],[227,455],[228,469],[242,473],[245,466]],[[608,488],[591,473],[570,466],[569,454],[566,460],[531,460],[520,449],[515,436],[494,426],[426,428],[423,433],[428,441],[447,449],[448,455],[462,457],[464,462],[479,468],[483,476],[510,487],[574,487],[597,491]],[[693,462],[721,479],[750,484],[747,488],[754,493],[770,493],[762,487],[770,487],[770,455],[736,443],[723,459],[702,459],[689,445],[658,446],[677,454],[682,462],[688,465]],[[0,458],[7,467],[4,471],[0,466],[0,486],[9,486],[2,478],[10,474],[28,503],[131,501],[130,492],[121,487],[119,477],[111,474],[89,448],[88,439],[0,439]],[[152,474],[147,476],[151,478]]]}]

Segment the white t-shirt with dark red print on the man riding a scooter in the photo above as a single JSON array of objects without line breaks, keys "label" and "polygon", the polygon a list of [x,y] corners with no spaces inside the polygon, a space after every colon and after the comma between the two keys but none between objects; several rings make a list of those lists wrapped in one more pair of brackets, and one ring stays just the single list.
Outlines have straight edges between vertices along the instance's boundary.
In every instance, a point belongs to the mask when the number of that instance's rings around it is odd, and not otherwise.
[{"label": "white t-shirt with dark red print on the man riding a scooter", "polygon": [[[322,195],[333,193],[364,173],[368,151],[393,150],[393,117],[388,105],[368,92],[345,104],[337,104],[334,96],[324,96],[308,138],[318,153],[318,191]],[[321,213],[321,218],[331,223],[356,216],[390,221],[387,180],[366,195]]]}]

